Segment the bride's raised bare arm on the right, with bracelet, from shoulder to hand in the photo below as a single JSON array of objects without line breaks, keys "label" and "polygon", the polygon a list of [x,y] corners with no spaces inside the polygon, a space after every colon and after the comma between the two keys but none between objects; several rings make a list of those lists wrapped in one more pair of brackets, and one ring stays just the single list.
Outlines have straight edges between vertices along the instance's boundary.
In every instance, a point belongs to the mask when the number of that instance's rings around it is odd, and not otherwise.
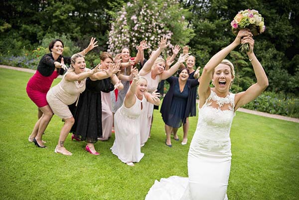
[{"label": "bride's raised bare arm on the right, with bracelet, from shoulder to hand", "polygon": [[236,94],[235,111],[241,106],[257,98],[269,85],[268,78],[263,69],[263,66],[253,52],[254,39],[252,38],[252,36],[246,36],[242,39],[242,43],[249,44],[249,51],[247,52],[247,55],[253,66],[257,82],[251,85],[246,91]]}]

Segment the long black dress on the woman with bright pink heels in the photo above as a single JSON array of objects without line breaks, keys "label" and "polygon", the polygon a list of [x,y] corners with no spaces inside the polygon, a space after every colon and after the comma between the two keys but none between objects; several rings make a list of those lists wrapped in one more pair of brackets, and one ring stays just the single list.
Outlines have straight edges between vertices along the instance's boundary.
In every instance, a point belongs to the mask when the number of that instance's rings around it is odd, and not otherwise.
[{"label": "long black dress on the woman with bright pink heels", "polygon": [[88,143],[96,143],[102,137],[102,100],[101,91],[110,92],[114,85],[110,78],[86,80],[86,89],[80,94],[79,101],[69,106],[75,118],[71,133]]}]

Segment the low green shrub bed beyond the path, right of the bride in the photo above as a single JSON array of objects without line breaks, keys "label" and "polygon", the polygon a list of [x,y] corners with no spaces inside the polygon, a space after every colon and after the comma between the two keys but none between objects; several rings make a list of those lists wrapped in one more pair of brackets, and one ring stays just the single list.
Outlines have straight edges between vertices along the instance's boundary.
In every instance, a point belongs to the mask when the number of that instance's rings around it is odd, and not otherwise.
[{"label": "low green shrub bed beyond the path, right of the bride", "polygon": [[299,99],[283,93],[263,92],[243,108],[299,118]]}]

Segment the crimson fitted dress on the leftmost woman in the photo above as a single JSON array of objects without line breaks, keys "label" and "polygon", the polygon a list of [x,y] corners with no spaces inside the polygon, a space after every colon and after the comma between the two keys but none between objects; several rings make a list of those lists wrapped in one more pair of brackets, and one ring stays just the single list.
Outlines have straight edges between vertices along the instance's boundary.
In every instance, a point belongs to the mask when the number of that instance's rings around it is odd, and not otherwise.
[{"label": "crimson fitted dress on the leftmost woman", "polygon": [[26,92],[28,97],[38,108],[48,105],[46,100],[52,82],[58,76],[58,71],[54,70],[50,76],[43,76],[37,70],[27,83]]}]

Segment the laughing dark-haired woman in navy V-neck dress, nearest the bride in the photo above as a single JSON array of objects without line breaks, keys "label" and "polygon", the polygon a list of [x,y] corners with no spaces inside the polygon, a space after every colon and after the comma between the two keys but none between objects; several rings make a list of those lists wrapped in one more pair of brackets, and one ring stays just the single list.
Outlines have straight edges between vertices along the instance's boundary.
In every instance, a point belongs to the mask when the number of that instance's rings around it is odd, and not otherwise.
[{"label": "laughing dark-haired woman in navy V-neck dress, nearest the bride", "polygon": [[[172,147],[170,134],[173,130],[173,138],[177,138],[176,131],[182,124],[186,123],[186,118],[190,115],[191,88],[199,85],[199,79],[188,79],[189,70],[183,68],[179,70],[179,77],[171,76],[166,81],[169,83],[169,90],[166,93],[160,113],[165,123],[166,140],[165,144]],[[187,134],[184,133],[184,139]]]}]

